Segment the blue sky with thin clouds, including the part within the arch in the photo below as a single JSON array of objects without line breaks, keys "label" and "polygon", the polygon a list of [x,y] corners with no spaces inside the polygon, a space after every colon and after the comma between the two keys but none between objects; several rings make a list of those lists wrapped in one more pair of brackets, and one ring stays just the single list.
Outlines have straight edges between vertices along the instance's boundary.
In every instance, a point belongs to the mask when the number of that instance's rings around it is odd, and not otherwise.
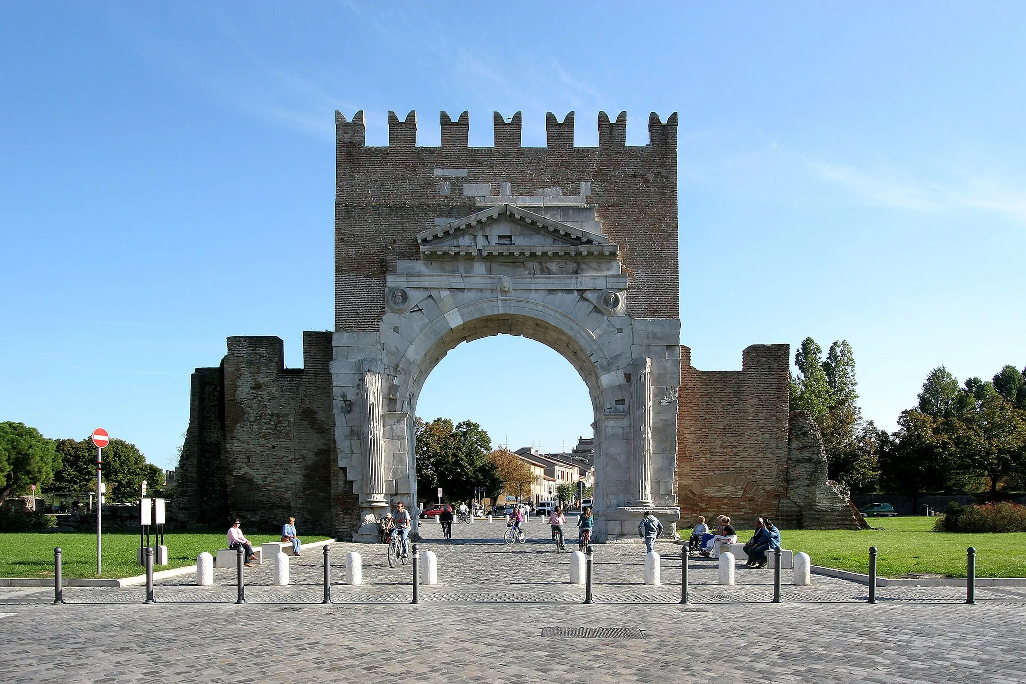
[{"label": "blue sky with thin clouds, including the part within the arch", "polygon": [[[384,8],[379,7],[383,5]],[[300,9],[302,7],[302,9]],[[893,428],[926,373],[1026,364],[1022,3],[2,3],[0,419],[103,426],[171,468],[233,334],[332,321],[333,111],[679,112],[681,339],[855,349]],[[499,372],[497,355],[508,359]],[[587,392],[520,338],[462,345],[419,413],[544,450]]]}]

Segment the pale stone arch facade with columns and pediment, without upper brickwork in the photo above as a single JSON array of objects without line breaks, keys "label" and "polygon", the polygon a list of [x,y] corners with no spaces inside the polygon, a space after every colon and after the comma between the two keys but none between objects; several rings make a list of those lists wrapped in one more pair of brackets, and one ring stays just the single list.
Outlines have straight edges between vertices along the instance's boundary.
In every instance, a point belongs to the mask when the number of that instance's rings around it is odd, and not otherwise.
[{"label": "pale stone arch facade with columns and pediment, without upper brickwork", "polygon": [[369,523],[386,506],[418,508],[413,421],[428,374],[461,341],[499,333],[551,347],[588,387],[596,540],[636,538],[649,509],[673,528],[680,321],[626,314],[618,246],[586,200],[478,198],[477,213],[418,234],[421,258],[387,276],[379,332],[334,333],[339,466],[366,523],[356,540],[377,540]]}]

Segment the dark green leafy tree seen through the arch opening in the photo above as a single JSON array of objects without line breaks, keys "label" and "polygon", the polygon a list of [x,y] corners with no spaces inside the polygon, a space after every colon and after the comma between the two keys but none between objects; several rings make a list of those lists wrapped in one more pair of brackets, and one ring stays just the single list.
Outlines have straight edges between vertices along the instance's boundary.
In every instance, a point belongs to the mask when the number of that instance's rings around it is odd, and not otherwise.
[{"label": "dark green leafy tree seen through the arch opening", "polygon": [[466,500],[474,487],[495,498],[502,488],[496,465],[488,458],[491,439],[476,423],[453,426],[448,418],[417,419],[418,493],[430,500],[441,487],[448,500]]}]

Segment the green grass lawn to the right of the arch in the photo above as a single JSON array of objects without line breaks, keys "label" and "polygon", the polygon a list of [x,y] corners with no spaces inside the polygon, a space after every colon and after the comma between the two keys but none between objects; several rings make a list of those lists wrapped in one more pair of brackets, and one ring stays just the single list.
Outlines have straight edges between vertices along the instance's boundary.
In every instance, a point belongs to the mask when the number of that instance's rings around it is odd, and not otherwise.
[{"label": "green grass lawn to the right of the arch", "polygon": [[[882,577],[929,573],[965,576],[965,549],[976,547],[976,576],[1026,577],[1026,532],[958,534],[934,532],[936,518],[869,518],[880,530],[782,530],[784,548],[803,551],[814,565],[869,572],[869,547],[876,547],[876,571]],[[690,531],[681,532],[687,538]],[[747,541],[752,530],[739,530]]]}]

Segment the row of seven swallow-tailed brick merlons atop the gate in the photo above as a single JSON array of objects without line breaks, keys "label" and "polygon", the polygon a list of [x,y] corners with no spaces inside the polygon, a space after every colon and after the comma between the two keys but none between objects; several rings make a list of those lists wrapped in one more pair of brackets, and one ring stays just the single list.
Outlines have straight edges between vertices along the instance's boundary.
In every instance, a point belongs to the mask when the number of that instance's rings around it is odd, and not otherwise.
[{"label": "row of seven swallow-tailed brick merlons atop the gate", "polygon": [[[515,149],[522,147],[522,115],[514,114],[507,120],[499,112],[492,116],[495,127],[494,147],[497,149]],[[366,146],[366,121],[360,110],[352,121],[347,121],[342,112],[334,113],[336,137],[340,145]],[[470,145],[470,113],[463,112],[457,120],[447,112],[441,112],[441,147],[443,149],[466,149]],[[550,150],[567,150],[574,146],[575,113],[569,112],[562,121],[552,112],[545,115],[546,148]],[[648,145],[644,147],[676,148],[677,145],[677,113],[667,118],[666,123],[656,112],[648,115]],[[406,114],[400,120],[395,112],[388,113],[388,147],[417,147],[417,112]],[[598,147],[627,147],[627,112],[621,112],[617,120],[609,121],[605,112],[598,113]]]}]

